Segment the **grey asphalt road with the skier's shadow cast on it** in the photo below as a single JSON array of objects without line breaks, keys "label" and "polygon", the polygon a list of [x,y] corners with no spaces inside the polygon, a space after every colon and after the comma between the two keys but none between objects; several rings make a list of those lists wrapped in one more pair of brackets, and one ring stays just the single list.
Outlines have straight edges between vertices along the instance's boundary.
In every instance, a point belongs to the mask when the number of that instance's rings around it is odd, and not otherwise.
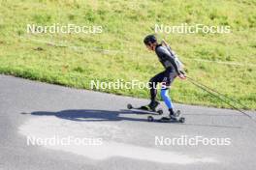
[{"label": "grey asphalt road with the skier's shadow cast on it", "polygon": [[239,112],[176,104],[186,123],[168,124],[126,109],[147,102],[0,75],[0,169],[256,168],[256,123]]}]

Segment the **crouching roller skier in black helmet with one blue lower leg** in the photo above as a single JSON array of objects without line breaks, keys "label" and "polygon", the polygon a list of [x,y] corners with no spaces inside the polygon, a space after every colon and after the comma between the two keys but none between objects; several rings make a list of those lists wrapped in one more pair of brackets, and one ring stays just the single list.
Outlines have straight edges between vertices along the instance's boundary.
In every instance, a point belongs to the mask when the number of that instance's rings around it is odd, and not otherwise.
[{"label": "crouching roller skier in black helmet with one blue lower leg", "polygon": [[166,42],[159,43],[154,35],[148,35],[144,38],[144,44],[150,51],[155,51],[160,63],[164,67],[164,71],[161,71],[154,75],[149,80],[150,89],[150,103],[147,105],[149,109],[155,110],[159,105],[156,100],[157,84],[161,83],[161,98],[164,100],[169,110],[169,117],[164,117],[167,120],[176,120],[179,116],[179,112],[175,111],[172,99],[169,96],[169,90],[173,84],[176,76],[180,79],[185,79],[186,76],[182,70],[182,63],[178,60],[175,52]]}]

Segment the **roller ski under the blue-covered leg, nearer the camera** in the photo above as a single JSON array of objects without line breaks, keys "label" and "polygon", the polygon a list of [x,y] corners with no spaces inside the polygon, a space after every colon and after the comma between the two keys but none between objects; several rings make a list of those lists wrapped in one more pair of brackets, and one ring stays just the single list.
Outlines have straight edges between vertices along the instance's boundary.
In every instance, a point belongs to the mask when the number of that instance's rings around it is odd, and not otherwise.
[{"label": "roller ski under the blue-covered leg, nearer the camera", "polygon": [[170,114],[168,117],[162,117],[160,119],[155,119],[153,116],[148,116],[147,121],[161,123],[184,123],[185,118],[180,117],[180,110],[177,110],[176,113]]}]

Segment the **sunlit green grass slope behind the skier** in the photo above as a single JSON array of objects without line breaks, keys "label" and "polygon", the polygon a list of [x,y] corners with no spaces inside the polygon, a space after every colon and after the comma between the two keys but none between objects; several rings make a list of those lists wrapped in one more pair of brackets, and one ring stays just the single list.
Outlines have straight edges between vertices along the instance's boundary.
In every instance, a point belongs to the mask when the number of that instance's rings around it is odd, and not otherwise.
[{"label": "sunlit green grass slope behind the skier", "polygon": [[[0,0],[0,72],[83,89],[90,89],[91,80],[146,82],[163,70],[143,44],[155,23],[230,25],[231,34],[160,36],[171,43],[189,76],[255,110],[255,8],[254,0]],[[32,23],[102,25],[103,33],[27,34]],[[146,89],[101,91],[148,98]],[[171,94],[180,103],[229,107],[188,81],[177,79]]]}]

